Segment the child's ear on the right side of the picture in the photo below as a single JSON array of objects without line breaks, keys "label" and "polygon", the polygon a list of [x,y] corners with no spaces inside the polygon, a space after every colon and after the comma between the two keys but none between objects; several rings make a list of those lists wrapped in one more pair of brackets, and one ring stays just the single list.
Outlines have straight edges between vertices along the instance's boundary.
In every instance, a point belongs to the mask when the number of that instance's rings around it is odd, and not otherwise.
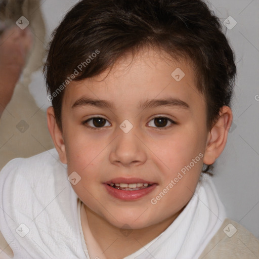
[{"label": "child's ear on the right side of the picture", "polygon": [[232,111],[228,106],[222,106],[219,119],[208,133],[203,163],[212,164],[224,150],[229,129],[232,123]]}]

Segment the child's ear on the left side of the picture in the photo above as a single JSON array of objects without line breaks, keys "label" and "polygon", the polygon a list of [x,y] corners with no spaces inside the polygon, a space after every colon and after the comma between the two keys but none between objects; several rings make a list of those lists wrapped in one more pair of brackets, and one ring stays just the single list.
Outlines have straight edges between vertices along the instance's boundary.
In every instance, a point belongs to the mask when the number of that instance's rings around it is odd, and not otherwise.
[{"label": "child's ear on the left side of the picture", "polygon": [[52,106],[47,109],[47,121],[48,121],[49,132],[51,134],[55,148],[59,153],[59,158],[62,163],[66,164],[67,157],[66,157],[66,150],[65,150],[65,145],[63,141],[63,135],[56,122],[56,117]]}]

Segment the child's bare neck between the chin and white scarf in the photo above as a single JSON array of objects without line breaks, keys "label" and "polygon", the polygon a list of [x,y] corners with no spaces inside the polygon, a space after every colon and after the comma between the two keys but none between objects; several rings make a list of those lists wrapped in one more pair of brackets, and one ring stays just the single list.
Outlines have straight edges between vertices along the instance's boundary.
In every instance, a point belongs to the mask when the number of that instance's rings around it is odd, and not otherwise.
[{"label": "child's bare neck between the chin and white scarf", "polygon": [[[158,224],[142,229],[125,229],[125,231],[122,231],[120,228],[107,222],[87,206],[83,205],[83,208],[87,215],[87,219],[84,219],[88,221],[92,235],[107,259],[122,259],[138,251],[168,228],[184,209],[182,208],[178,213]],[[85,224],[82,222],[84,233],[85,227]],[[122,247],[123,249],[121,249]]]}]

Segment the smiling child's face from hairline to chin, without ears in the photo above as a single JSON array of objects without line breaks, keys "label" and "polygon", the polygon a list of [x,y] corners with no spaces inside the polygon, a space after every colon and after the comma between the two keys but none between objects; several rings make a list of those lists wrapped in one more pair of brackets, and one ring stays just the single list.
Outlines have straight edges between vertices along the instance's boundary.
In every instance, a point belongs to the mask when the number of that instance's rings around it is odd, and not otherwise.
[{"label": "smiling child's face from hairline to chin, without ears", "polygon": [[[177,68],[185,73],[180,81],[175,79],[181,78],[178,70],[171,76]],[[84,204],[119,228],[173,219],[197,186],[208,138],[206,106],[194,71],[188,63],[171,62],[149,50],[134,59],[125,56],[107,74],[72,81],[64,93],[62,160],[68,175],[75,171],[81,177],[72,187]],[[86,98],[114,107],[89,105]],[[156,106],[160,99],[176,100]],[[146,102],[154,105],[139,108]],[[106,120],[90,120],[98,116]],[[142,180],[130,183],[153,185],[140,191],[107,185],[132,178]]]}]

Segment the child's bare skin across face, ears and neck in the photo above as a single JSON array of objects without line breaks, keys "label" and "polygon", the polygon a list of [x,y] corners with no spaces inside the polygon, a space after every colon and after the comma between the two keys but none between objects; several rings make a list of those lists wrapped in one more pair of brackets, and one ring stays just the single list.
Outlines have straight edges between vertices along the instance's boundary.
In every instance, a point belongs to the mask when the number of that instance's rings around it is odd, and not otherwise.
[{"label": "child's bare skin across face, ears and neck", "polygon": [[[68,165],[68,175],[76,171],[81,177],[72,187],[84,203],[91,231],[107,258],[123,258],[162,233],[191,199],[203,162],[212,164],[225,147],[231,109],[223,106],[217,123],[210,131],[206,128],[205,100],[195,86],[190,64],[169,60],[166,53],[154,49],[143,49],[135,57],[127,54],[111,70],[68,85],[62,104],[62,132],[53,108],[48,109],[55,147]],[[180,81],[171,76],[176,68],[185,73]],[[82,97],[112,101],[115,108],[71,108]],[[189,108],[138,108],[140,102],[168,97],[186,102]],[[93,120],[82,124],[97,115],[107,119],[101,130],[91,129],[98,125]],[[176,124],[167,120],[161,128],[153,119],[158,115]],[[133,125],[128,133],[119,127],[125,119]],[[152,204],[151,199],[199,153],[203,158]],[[109,195],[103,185],[117,177],[142,178],[157,186],[138,200],[122,201]],[[133,230],[127,237],[120,231],[124,224]]]}]

